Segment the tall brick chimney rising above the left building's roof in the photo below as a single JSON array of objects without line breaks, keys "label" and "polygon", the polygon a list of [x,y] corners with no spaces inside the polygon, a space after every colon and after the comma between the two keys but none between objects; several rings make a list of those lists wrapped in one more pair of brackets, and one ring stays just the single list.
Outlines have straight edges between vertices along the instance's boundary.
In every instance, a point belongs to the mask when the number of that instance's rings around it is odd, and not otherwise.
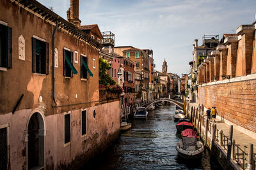
[{"label": "tall brick chimney rising above the left building's roof", "polygon": [[70,8],[67,11],[67,20],[80,28],[81,20],[79,20],[79,0],[70,0]]}]

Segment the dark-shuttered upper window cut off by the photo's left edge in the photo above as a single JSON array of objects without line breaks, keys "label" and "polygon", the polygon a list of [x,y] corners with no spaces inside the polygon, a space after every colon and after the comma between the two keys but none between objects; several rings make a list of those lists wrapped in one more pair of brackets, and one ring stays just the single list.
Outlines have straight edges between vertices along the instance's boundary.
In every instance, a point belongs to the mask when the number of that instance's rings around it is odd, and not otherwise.
[{"label": "dark-shuttered upper window cut off by the photo's left edge", "polygon": [[7,24],[0,24],[0,67],[12,67],[12,28]]}]

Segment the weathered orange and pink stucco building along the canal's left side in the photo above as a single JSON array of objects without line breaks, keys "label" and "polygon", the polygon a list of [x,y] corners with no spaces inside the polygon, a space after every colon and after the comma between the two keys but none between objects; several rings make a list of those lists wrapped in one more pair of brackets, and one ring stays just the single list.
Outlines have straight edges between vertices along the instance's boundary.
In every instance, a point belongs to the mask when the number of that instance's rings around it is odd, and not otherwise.
[{"label": "weathered orange and pink stucco building along the canal's left side", "polygon": [[102,99],[101,46],[73,8],[71,23],[36,1],[0,2],[3,169],[74,168],[118,137],[120,98]]}]

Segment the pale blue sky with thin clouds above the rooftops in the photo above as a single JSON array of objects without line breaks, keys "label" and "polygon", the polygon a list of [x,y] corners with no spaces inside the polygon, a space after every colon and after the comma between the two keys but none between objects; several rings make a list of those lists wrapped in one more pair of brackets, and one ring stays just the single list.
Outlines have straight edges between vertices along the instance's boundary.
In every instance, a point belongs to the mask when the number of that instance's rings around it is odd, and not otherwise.
[{"label": "pale blue sky with thin clouds above the rooftops", "polygon": [[[38,0],[67,19],[70,0]],[[98,24],[115,34],[115,46],[152,49],[156,70],[189,73],[193,43],[202,36],[236,33],[255,21],[255,0],[80,0],[81,25]]]}]

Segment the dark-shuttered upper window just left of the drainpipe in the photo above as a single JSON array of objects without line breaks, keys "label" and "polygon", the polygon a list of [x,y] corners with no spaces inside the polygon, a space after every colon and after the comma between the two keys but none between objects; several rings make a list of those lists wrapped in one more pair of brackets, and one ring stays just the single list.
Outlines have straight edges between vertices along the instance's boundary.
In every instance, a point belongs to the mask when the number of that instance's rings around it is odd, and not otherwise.
[{"label": "dark-shuttered upper window just left of the drainpipe", "polygon": [[32,38],[32,72],[49,73],[49,44],[44,39]]}]

